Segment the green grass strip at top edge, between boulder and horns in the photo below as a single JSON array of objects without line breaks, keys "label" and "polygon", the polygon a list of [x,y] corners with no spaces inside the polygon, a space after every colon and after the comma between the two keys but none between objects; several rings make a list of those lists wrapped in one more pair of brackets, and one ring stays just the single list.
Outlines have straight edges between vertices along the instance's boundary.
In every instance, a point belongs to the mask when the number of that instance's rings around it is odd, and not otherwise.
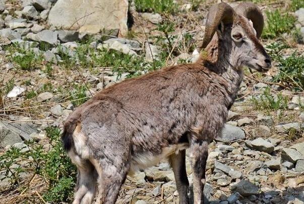
[{"label": "green grass strip at top edge, between boulder and horns", "polygon": [[178,11],[178,5],[173,0],[135,0],[138,12],[154,12],[159,14],[174,14]]}]

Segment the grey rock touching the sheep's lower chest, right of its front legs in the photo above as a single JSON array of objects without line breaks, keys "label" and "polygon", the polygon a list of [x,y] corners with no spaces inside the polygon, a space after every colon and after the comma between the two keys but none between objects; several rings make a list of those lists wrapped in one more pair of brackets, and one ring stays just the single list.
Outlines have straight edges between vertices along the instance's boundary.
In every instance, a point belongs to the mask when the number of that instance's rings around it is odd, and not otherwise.
[{"label": "grey rock touching the sheep's lower chest, right of its front legs", "polygon": [[239,139],[244,139],[245,133],[239,127],[225,124],[222,129],[221,137],[217,137],[216,140],[221,142],[232,142]]}]

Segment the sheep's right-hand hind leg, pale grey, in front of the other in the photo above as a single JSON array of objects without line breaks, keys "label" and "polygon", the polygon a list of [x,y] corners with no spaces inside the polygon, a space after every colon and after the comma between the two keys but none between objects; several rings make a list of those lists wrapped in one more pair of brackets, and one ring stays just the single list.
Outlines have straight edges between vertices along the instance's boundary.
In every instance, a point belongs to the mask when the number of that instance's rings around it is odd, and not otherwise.
[{"label": "sheep's right-hand hind leg, pale grey, in front of the other", "polygon": [[[116,158],[117,159],[117,158]],[[114,204],[120,187],[126,180],[129,170],[128,164],[121,162],[114,165],[113,162],[104,160],[92,161],[98,174],[98,197],[95,204]]]}]

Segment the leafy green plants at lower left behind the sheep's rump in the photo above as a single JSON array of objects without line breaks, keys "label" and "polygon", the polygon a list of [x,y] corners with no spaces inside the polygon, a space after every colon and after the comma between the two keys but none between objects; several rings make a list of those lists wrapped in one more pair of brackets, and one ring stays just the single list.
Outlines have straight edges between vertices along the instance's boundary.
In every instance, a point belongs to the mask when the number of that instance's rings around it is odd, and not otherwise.
[{"label": "leafy green plants at lower left behind the sheep's rump", "polygon": [[[33,141],[26,142],[29,151],[21,152],[12,147],[0,156],[0,172],[4,178],[9,178],[13,188],[17,191],[26,190],[27,182],[22,185],[22,173],[27,172],[46,179],[46,190],[40,192],[46,202],[62,203],[71,202],[75,186],[76,168],[67,157],[60,140],[60,129],[48,127],[45,129],[48,143],[51,148],[43,149],[42,144]],[[21,165],[22,164],[22,165]],[[31,197],[24,197],[25,203],[35,203]]]}]

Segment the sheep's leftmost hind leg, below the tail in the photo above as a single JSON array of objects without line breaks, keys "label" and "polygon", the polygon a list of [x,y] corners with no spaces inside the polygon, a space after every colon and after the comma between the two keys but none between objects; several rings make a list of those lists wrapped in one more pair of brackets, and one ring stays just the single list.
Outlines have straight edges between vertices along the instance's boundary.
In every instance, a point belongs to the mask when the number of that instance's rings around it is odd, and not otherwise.
[{"label": "sheep's leftmost hind leg, below the tail", "polygon": [[69,156],[78,170],[73,204],[90,204],[96,193],[97,172],[90,161],[81,159],[74,152],[69,152]]}]

